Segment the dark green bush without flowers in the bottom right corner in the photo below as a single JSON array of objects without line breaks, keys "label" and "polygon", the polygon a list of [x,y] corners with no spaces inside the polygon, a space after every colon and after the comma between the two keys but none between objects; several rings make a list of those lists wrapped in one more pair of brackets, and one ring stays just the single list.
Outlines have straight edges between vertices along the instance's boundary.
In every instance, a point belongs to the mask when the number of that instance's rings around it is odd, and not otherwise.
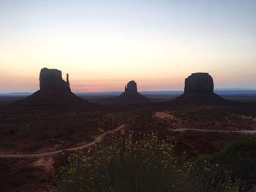
[{"label": "dark green bush without flowers in the bottom right corner", "polygon": [[223,169],[233,172],[233,177],[247,181],[246,189],[251,186],[250,181],[256,180],[256,137],[246,135],[231,142],[219,153],[199,155],[190,162],[200,166],[207,160],[209,164],[219,164]]}]

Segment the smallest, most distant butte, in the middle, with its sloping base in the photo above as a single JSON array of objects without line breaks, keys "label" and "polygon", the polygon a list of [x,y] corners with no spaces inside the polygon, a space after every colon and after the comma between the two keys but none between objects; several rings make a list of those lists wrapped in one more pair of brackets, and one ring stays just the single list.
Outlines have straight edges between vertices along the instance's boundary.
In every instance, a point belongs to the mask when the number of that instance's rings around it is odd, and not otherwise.
[{"label": "smallest, most distant butte, in the middle, with its sloping base", "polygon": [[138,101],[146,101],[148,98],[138,93],[137,91],[137,83],[132,80],[125,85],[124,93],[121,93],[118,96],[118,100],[121,101],[129,101],[129,102],[138,102]]}]

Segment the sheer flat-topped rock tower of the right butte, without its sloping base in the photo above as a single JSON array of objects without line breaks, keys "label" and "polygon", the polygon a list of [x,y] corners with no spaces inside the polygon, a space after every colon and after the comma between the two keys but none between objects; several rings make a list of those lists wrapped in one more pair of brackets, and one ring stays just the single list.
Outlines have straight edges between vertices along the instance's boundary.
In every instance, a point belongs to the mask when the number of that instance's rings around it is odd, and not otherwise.
[{"label": "sheer flat-topped rock tower of the right butte, without its sloping base", "polygon": [[214,80],[208,73],[192,73],[185,80],[184,93],[214,93]]}]

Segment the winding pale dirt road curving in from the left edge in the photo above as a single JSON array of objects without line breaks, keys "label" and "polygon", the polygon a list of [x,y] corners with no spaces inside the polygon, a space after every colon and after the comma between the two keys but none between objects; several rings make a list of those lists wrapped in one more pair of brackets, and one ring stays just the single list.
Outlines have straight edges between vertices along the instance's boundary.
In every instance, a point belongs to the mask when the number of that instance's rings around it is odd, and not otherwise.
[{"label": "winding pale dirt road curving in from the left edge", "polygon": [[64,150],[80,150],[80,149],[85,149],[85,148],[91,147],[92,145],[94,145],[97,142],[101,142],[106,134],[112,134],[114,132],[117,132],[117,131],[121,130],[122,128],[124,128],[124,126],[126,126],[126,125],[123,124],[121,126],[118,126],[118,128],[116,128],[116,129],[113,129],[111,131],[107,131],[104,134],[99,135],[99,137],[97,137],[97,139],[95,139],[94,142],[89,142],[86,145],[81,145],[79,147],[72,147],[72,148],[63,149],[63,150],[54,150],[54,151],[46,152],[46,153],[0,154],[0,158],[40,158],[40,157],[45,157],[45,156],[56,155],[58,153],[63,152]]}]

